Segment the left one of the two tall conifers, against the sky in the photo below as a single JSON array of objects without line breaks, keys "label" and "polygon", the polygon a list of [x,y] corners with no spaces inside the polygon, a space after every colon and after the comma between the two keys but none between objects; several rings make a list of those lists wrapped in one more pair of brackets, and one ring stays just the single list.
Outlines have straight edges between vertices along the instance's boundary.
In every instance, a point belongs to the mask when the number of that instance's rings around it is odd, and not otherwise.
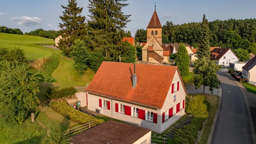
[{"label": "left one of the two tall conifers, against the sky", "polygon": [[64,11],[60,19],[63,24],[59,23],[62,39],[58,48],[67,56],[70,56],[75,40],[84,40],[86,37],[86,17],[81,15],[83,8],[77,6],[76,0],[68,0],[68,6],[62,6],[62,8],[64,8]]}]

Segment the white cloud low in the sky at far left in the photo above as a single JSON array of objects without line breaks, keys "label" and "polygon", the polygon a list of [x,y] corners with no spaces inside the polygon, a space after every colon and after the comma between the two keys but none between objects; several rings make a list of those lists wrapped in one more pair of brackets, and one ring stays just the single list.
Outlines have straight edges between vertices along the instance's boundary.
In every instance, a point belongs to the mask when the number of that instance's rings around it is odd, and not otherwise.
[{"label": "white cloud low in the sky at far left", "polygon": [[16,20],[18,21],[19,25],[24,25],[24,26],[36,26],[36,25],[41,25],[42,24],[42,18],[38,17],[29,17],[29,16],[17,16],[14,18],[11,18],[11,20]]}]

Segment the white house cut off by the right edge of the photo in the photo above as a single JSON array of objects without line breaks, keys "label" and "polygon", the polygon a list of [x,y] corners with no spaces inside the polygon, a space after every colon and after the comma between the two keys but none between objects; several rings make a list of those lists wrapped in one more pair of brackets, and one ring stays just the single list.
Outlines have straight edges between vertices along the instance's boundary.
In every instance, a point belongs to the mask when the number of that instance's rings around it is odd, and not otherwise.
[{"label": "white house cut off by the right edge of the photo", "polygon": [[256,57],[243,66],[242,76],[248,79],[248,83],[256,86]]}]

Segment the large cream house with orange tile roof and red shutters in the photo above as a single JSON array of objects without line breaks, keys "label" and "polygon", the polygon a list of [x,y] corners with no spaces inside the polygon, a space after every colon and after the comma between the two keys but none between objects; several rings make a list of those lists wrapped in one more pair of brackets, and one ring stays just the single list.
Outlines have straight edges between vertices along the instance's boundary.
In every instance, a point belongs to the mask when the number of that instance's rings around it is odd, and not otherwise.
[{"label": "large cream house with orange tile roof and red shutters", "polygon": [[177,66],[102,62],[85,92],[89,110],[155,132],[185,114]]}]

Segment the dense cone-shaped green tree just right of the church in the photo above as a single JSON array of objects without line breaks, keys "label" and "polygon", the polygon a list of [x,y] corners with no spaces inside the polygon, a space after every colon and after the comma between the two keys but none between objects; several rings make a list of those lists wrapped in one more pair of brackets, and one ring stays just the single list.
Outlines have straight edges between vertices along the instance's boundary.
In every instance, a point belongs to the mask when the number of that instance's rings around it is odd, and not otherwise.
[{"label": "dense cone-shaped green tree just right of the church", "polygon": [[186,49],[186,46],[184,44],[180,44],[179,50],[177,52],[176,58],[175,58],[175,64],[178,66],[180,70],[181,76],[186,76],[189,73],[189,56],[188,51]]}]

